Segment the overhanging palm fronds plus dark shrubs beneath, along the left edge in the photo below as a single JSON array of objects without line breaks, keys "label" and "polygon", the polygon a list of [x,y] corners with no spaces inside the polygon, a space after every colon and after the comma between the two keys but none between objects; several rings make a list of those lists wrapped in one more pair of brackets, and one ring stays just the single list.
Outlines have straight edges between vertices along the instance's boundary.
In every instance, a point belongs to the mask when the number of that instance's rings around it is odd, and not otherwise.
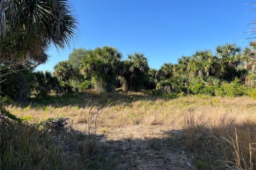
[{"label": "overhanging palm fronds plus dark shrubs beneath, along the left edge", "polygon": [[33,69],[47,61],[50,45],[63,48],[76,36],[73,6],[67,0],[15,0],[1,1],[0,11],[0,96],[25,101],[35,91],[50,95],[60,83]]}]

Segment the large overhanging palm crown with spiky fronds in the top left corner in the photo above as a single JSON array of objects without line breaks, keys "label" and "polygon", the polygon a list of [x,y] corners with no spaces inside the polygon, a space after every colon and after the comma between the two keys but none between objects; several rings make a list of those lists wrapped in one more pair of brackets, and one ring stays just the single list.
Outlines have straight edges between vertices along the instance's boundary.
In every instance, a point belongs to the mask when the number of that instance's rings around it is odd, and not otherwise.
[{"label": "large overhanging palm crown with spiky fronds in the top left corner", "polygon": [[0,63],[13,66],[47,61],[46,49],[64,48],[75,37],[77,20],[68,0],[0,2]]}]

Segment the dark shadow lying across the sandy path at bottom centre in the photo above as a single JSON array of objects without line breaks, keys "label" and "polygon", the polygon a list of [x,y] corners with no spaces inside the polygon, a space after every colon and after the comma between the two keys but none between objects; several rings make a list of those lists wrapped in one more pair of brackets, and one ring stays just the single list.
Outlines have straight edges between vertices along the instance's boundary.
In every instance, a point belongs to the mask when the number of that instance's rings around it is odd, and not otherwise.
[{"label": "dark shadow lying across the sandy path at bottom centre", "polygon": [[162,138],[123,138],[105,140],[101,135],[98,140],[104,141],[108,152],[115,162],[113,169],[195,169],[191,153],[182,147],[180,133],[166,131]]}]

